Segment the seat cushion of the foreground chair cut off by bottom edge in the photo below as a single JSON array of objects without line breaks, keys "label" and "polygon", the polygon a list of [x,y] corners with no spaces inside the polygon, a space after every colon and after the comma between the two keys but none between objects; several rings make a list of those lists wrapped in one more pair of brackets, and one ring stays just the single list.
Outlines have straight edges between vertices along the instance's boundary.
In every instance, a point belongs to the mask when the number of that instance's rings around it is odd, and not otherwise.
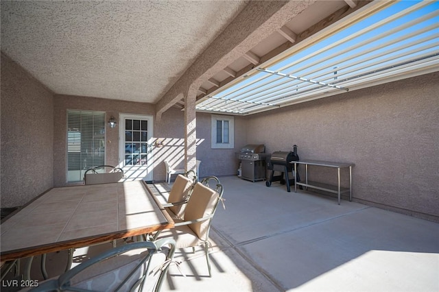
[{"label": "seat cushion of the foreground chair cut off by bottom edge", "polygon": [[[141,254],[139,254],[139,250],[134,250],[97,263],[74,276],[70,281],[71,287],[93,291],[114,291],[121,283],[121,280],[126,278],[128,273],[147,256],[147,253],[147,250]],[[152,291],[154,289],[156,277],[160,276],[160,273],[154,273],[156,271],[153,271],[153,269],[163,264],[165,259],[166,256],[163,253],[154,254],[154,256],[152,256],[150,270],[148,271],[147,279],[144,284],[144,291]],[[121,291],[129,291],[130,287],[141,279],[146,265],[147,262],[144,263],[140,269],[135,271],[130,280],[123,285]]]}]

